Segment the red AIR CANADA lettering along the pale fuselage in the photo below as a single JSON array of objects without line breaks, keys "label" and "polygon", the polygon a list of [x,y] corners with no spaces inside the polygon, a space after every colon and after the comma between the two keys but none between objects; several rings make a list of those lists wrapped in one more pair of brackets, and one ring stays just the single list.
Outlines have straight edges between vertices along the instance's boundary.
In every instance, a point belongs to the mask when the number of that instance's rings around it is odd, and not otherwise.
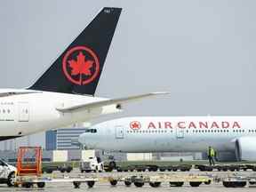
[{"label": "red AIR CANADA lettering along the pale fuselage", "polygon": [[149,122],[148,129],[172,129],[172,128],[180,128],[180,129],[230,129],[230,128],[241,128],[242,125],[237,121],[212,121],[212,122],[194,122],[194,121],[180,121],[180,122]]}]

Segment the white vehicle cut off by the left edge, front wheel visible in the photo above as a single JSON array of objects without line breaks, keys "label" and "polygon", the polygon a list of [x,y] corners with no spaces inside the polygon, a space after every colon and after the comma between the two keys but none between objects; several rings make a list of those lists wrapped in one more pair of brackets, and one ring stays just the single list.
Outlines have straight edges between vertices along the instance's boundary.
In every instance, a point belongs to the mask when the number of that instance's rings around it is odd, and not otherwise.
[{"label": "white vehicle cut off by the left edge, front wheel visible", "polygon": [[9,187],[14,186],[16,181],[17,168],[7,164],[0,159],[0,183],[7,184]]}]

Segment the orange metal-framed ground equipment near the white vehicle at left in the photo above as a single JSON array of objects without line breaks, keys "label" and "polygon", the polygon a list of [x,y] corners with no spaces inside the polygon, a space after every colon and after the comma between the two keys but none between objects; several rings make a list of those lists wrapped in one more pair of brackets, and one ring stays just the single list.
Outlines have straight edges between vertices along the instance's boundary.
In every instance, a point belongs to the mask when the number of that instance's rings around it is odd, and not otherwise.
[{"label": "orange metal-framed ground equipment near the white vehicle at left", "polygon": [[42,174],[42,148],[20,147],[17,157],[17,170],[19,176]]}]

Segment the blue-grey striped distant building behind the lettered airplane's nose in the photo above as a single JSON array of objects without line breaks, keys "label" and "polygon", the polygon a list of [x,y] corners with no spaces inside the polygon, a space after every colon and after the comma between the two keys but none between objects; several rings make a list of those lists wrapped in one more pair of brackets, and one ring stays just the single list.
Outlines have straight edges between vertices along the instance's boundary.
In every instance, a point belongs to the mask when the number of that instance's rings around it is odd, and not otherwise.
[{"label": "blue-grey striped distant building behind the lettered airplane's nose", "polygon": [[79,149],[80,145],[77,145],[77,140],[80,134],[85,132],[86,128],[65,128],[57,130],[57,149]]}]

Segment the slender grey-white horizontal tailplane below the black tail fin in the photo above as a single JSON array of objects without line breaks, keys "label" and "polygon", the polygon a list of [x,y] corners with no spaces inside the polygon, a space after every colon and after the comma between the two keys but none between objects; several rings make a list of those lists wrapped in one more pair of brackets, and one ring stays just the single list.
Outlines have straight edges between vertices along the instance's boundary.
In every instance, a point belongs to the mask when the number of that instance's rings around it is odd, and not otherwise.
[{"label": "slender grey-white horizontal tailplane below the black tail fin", "polygon": [[168,92],[151,92],[151,93],[147,93],[147,94],[141,94],[141,95],[135,95],[135,96],[130,96],[130,97],[125,97],[125,98],[119,98],[119,99],[113,99],[113,100],[100,100],[100,101],[96,101],[96,102],[92,102],[92,103],[87,103],[87,104],[83,104],[83,105],[77,105],[77,106],[72,106],[72,107],[68,107],[68,108],[56,108],[57,110],[59,110],[60,112],[72,112],[75,111],[77,109],[89,109],[89,108],[100,108],[100,107],[104,107],[104,106],[108,106],[108,105],[122,105],[124,103],[127,102],[131,102],[134,100],[141,100],[144,98],[149,98],[149,97],[154,97],[157,95],[167,95],[169,94]]}]

